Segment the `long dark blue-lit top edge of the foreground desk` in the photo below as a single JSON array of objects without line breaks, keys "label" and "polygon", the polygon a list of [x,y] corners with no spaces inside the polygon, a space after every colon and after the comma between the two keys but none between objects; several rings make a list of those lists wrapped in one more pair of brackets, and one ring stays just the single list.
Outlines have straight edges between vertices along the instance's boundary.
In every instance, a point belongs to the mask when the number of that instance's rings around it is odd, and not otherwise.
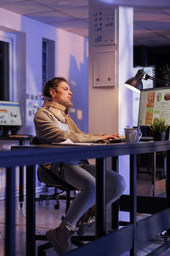
[{"label": "long dark blue-lit top edge of the foreground desk", "polygon": [[[96,144],[93,146],[30,145],[0,151],[0,166],[64,162],[66,160],[115,157],[169,150],[170,141]],[[14,150],[16,149],[16,150]]]}]

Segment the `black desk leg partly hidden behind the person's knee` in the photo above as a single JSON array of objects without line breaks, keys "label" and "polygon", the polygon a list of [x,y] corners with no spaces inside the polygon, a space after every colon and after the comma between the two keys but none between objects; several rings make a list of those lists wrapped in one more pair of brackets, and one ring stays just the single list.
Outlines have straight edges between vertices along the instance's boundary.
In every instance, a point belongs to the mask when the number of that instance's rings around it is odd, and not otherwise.
[{"label": "black desk leg partly hidden behind the person's knee", "polygon": [[[115,172],[119,172],[119,159],[118,157],[112,157],[111,168]],[[111,229],[117,230],[119,227],[119,200],[115,201],[111,205]]]}]

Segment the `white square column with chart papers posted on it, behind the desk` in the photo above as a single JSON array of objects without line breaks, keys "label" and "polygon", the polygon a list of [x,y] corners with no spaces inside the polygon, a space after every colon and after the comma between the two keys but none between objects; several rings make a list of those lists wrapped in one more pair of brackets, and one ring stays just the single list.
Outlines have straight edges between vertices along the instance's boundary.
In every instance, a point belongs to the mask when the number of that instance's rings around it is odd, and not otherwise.
[{"label": "white square column with chart papers posted on it, behind the desk", "polygon": [[[133,96],[124,86],[133,76],[133,9],[90,0],[88,41],[88,130],[123,135],[124,127],[133,125]],[[126,181],[128,163],[121,157]]]}]

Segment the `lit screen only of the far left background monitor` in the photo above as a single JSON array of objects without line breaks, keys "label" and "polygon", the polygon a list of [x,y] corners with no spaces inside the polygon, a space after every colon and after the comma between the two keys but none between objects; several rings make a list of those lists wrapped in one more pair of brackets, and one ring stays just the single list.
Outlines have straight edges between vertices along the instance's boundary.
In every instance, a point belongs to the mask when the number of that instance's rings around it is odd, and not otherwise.
[{"label": "lit screen only of the far left background monitor", "polygon": [[0,101],[0,126],[21,126],[20,102]]}]

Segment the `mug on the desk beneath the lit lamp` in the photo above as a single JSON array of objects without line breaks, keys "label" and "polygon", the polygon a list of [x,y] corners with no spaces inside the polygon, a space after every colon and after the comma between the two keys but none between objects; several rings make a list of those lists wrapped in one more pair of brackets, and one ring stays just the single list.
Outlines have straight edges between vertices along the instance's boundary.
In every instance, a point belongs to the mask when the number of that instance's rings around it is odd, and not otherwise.
[{"label": "mug on the desk beneath the lit lamp", "polygon": [[125,128],[125,141],[126,143],[139,143],[142,137],[140,128]]}]

